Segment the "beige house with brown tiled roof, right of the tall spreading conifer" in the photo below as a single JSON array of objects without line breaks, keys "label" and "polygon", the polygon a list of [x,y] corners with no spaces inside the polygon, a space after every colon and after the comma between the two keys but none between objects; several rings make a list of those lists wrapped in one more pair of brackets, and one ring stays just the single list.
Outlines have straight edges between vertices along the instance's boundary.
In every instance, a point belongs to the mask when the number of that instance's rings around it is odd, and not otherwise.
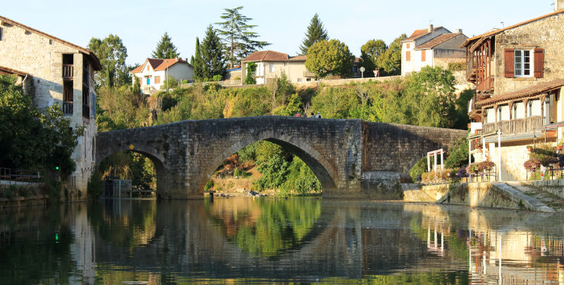
[{"label": "beige house with brown tiled roof, right of the tall spreading conifer", "polygon": [[257,65],[257,70],[252,74],[257,84],[279,78],[282,73],[286,74],[290,82],[314,81],[315,75],[305,68],[306,58],[307,56],[288,56],[278,51],[255,51],[241,61],[241,84],[245,84],[248,63]]}]

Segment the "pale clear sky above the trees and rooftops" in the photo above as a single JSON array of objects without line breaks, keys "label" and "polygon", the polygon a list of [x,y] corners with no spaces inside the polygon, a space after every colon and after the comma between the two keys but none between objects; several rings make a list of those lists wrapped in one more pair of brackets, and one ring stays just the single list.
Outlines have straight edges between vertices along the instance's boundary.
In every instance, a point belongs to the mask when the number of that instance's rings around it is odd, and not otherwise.
[{"label": "pale clear sky above the trees and rooftops", "polygon": [[[5,3],[3,3],[5,2]],[[315,13],[329,37],[348,45],[355,56],[370,39],[389,44],[429,23],[467,37],[494,27],[507,27],[553,12],[553,0],[349,0],[349,1],[57,1],[31,0],[17,4],[0,0],[0,15],[86,47],[92,37],[117,34],[128,49],[128,65],[150,57],[164,32],[172,38],[181,58],[190,58],[208,25],[221,21],[223,8],[243,6],[252,18],[264,49],[294,56]],[[503,24],[501,23],[503,22]],[[214,25],[214,27],[219,27]]]}]

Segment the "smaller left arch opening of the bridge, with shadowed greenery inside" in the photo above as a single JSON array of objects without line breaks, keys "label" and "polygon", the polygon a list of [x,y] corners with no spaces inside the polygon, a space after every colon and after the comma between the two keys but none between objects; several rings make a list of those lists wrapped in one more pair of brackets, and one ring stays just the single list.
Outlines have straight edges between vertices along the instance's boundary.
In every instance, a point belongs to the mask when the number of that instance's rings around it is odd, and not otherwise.
[{"label": "smaller left arch opening of the bridge, with shadowed greenery inside", "polygon": [[129,180],[130,184],[124,187],[126,191],[131,189],[137,196],[152,197],[159,194],[164,165],[159,158],[144,151],[117,151],[97,163],[96,174],[102,180]]}]

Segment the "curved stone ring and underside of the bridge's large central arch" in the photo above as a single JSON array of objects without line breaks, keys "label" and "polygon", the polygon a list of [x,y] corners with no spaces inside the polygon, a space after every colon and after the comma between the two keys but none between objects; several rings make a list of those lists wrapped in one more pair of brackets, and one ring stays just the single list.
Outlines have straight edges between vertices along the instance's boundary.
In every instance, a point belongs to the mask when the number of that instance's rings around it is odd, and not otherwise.
[{"label": "curved stone ring and underside of the bridge's large central arch", "polygon": [[199,188],[202,189],[200,191],[203,191],[205,183],[210,177],[212,177],[217,167],[219,167],[223,161],[233,155],[233,153],[236,153],[245,146],[257,141],[269,141],[281,146],[289,153],[293,153],[295,156],[298,156],[298,158],[300,158],[312,170],[315,177],[319,179],[323,190],[336,189],[336,181],[338,181],[338,172],[336,167],[335,165],[329,163],[329,161],[326,160],[319,151],[303,139],[275,134],[275,132],[268,131],[260,132],[259,134],[252,134],[225,148],[224,151],[214,158],[207,170],[205,170],[205,179],[202,179],[202,182],[200,182]]}]

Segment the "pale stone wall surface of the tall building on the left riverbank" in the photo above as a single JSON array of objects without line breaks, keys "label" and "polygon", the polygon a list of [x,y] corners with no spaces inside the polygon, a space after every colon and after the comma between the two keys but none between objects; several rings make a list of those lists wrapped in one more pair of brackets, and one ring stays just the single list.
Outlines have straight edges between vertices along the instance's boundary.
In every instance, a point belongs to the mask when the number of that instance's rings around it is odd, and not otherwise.
[{"label": "pale stone wall surface of the tall building on the left riverbank", "polygon": [[[31,75],[27,80],[32,84],[32,96],[39,110],[63,101],[63,54],[73,56],[73,114],[65,115],[71,120],[71,127],[85,126],[84,136],[78,139],[78,146],[71,158],[75,160],[76,170],[72,176],[75,186],[86,194],[88,179],[94,166],[92,151],[96,135],[94,118],[82,118],[82,66],[87,63],[85,55],[72,44],[52,39],[26,30],[16,24],[2,21],[3,36],[0,41],[0,66],[5,66]],[[89,68],[92,72],[92,68]],[[26,80],[26,81],[27,81]],[[90,80],[89,94],[94,92],[94,82]],[[89,97],[90,98],[90,97]],[[85,195],[84,195],[85,196]]]}]

